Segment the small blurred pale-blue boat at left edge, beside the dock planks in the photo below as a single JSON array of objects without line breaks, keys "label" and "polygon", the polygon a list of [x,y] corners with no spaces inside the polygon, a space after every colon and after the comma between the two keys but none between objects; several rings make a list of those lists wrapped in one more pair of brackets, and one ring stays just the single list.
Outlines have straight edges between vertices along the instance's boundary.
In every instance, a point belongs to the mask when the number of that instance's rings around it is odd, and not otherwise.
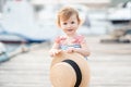
[{"label": "small blurred pale-blue boat at left edge, beside the dock planks", "polygon": [[0,42],[0,63],[5,62],[17,54],[28,51],[29,48],[25,45],[7,45]]}]

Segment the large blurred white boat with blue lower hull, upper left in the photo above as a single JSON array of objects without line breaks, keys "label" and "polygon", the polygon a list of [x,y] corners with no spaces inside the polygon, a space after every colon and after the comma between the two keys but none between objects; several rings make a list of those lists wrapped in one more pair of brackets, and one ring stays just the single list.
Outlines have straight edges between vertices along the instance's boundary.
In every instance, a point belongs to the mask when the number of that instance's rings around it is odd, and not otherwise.
[{"label": "large blurred white boat with blue lower hull, upper left", "polygon": [[47,25],[48,20],[37,21],[35,15],[34,7],[28,0],[8,0],[0,18],[0,41],[44,42],[53,39],[57,35],[56,27]]}]

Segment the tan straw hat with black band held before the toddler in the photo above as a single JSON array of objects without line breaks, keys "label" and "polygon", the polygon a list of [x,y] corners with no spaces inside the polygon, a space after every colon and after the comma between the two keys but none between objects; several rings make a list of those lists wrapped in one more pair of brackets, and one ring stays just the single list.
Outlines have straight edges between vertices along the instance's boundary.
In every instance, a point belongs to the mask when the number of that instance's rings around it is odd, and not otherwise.
[{"label": "tan straw hat with black band held before the toddler", "polygon": [[87,61],[79,53],[60,52],[52,59],[50,80],[53,87],[87,87]]}]

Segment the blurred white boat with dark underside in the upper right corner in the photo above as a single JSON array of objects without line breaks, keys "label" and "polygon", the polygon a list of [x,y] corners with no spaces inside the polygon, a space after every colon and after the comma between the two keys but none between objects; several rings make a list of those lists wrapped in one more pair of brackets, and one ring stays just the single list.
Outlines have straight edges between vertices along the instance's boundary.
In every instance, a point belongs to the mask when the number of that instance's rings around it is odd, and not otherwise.
[{"label": "blurred white boat with dark underside in the upper right corner", "polygon": [[131,22],[131,2],[121,3],[117,8],[109,9],[107,20],[112,24]]}]

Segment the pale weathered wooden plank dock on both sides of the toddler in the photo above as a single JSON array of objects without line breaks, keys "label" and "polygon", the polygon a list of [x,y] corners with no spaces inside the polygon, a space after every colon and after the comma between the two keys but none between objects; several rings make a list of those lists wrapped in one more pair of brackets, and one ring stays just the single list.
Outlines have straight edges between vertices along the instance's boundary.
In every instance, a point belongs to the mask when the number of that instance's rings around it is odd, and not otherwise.
[{"label": "pale weathered wooden plank dock on both sides of the toddler", "polygon": [[[131,44],[100,44],[103,36],[87,36],[92,51],[90,87],[131,87]],[[51,87],[50,45],[0,63],[0,87]]]}]

